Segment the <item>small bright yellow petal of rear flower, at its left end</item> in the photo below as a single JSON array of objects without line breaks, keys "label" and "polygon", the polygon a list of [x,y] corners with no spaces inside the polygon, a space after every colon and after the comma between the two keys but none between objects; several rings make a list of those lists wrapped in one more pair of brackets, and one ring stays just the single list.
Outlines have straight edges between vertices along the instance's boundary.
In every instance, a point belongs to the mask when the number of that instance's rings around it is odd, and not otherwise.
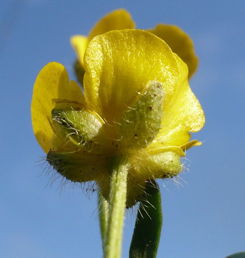
[{"label": "small bright yellow petal of rear flower, at its left end", "polygon": [[85,36],[76,35],[76,36],[72,36],[70,41],[74,51],[76,52],[78,61],[83,67],[83,57],[88,45],[88,38]]}]

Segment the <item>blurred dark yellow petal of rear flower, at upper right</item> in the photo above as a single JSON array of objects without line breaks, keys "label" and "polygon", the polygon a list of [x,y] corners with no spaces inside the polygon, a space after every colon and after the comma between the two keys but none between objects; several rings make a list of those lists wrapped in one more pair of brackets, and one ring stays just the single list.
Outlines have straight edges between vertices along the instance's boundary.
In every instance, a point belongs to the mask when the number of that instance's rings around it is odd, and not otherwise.
[{"label": "blurred dark yellow petal of rear flower, at upper right", "polygon": [[191,38],[179,27],[174,25],[159,24],[153,30],[148,30],[159,38],[163,39],[188,66],[190,78],[196,71],[198,58],[194,52],[194,45]]}]

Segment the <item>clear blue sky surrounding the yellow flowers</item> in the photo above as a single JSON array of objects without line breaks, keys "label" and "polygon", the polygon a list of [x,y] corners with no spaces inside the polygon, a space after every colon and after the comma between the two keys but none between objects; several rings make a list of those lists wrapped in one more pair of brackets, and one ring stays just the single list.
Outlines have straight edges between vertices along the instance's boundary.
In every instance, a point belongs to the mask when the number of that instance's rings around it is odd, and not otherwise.
[{"label": "clear blue sky surrounding the yellow flowers", "polygon": [[[0,257],[102,257],[97,194],[45,175],[30,104],[40,69],[62,63],[70,79],[74,34],[125,8],[137,28],[175,24],[193,39],[199,68],[190,86],[206,116],[192,136],[178,185],[159,181],[163,230],[157,257],[224,258],[245,251],[245,2],[3,1],[0,9]],[[135,212],[134,212],[135,213]],[[127,212],[123,258],[135,216]]]}]

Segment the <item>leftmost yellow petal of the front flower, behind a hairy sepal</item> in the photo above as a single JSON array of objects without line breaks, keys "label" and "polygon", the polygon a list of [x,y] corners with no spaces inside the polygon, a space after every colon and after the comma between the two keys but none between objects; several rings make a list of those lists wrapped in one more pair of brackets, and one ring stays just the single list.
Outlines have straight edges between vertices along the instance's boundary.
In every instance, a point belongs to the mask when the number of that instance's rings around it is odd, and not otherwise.
[{"label": "leftmost yellow petal of the front flower, behind a hairy sepal", "polygon": [[48,116],[54,108],[52,99],[68,99],[84,104],[84,96],[76,82],[69,83],[65,67],[59,63],[48,63],[38,74],[34,84],[31,113],[32,126],[36,139],[48,153],[51,148],[51,129]]}]

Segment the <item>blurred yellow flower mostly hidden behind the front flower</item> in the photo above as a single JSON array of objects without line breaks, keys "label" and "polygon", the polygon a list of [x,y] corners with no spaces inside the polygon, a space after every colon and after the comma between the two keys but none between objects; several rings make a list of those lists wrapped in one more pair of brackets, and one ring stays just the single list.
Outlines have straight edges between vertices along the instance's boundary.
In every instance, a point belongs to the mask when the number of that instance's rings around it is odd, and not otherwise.
[{"label": "blurred yellow flower mostly hidden behind the front flower", "polygon": [[[71,38],[71,44],[76,51],[78,62],[75,63],[75,70],[78,80],[83,84],[84,74],[84,53],[88,43],[97,35],[111,30],[134,29],[135,23],[130,13],[124,9],[117,9],[105,15],[90,31],[88,37],[76,35]],[[174,25],[158,24],[154,29],[147,30],[163,39],[174,53],[176,53],[187,65],[190,78],[196,71],[198,58],[194,52],[193,42],[180,28]]]}]

